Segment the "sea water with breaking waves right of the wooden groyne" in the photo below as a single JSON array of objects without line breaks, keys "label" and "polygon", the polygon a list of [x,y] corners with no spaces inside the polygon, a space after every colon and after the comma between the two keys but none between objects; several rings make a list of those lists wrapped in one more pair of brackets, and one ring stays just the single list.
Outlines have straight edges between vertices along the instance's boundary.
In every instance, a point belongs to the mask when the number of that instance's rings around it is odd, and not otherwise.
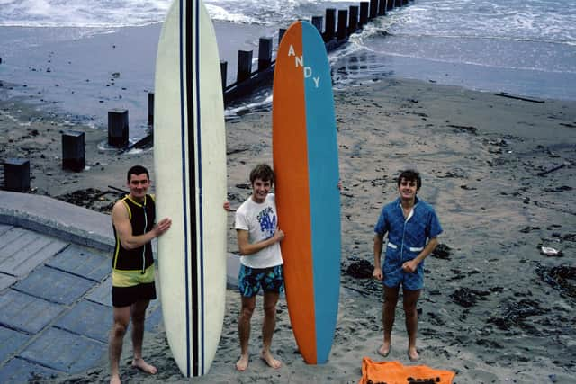
[{"label": "sea water with breaking waves right of the wooden groyne", "polygon": [[353,35],[335,61],[337,84],[385,73],[576,100],[576,1],[418,0]]}]

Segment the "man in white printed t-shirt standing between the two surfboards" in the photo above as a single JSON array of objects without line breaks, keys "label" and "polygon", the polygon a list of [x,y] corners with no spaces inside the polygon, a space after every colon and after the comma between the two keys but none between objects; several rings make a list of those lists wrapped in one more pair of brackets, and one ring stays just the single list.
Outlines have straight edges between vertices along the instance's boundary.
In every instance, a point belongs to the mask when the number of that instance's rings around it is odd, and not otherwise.
[{"label": "man in white printed t-shirt standing between the two surfboards", "polygon": [[[272,335],[276,326],[276,303],[284,290],[284,276],[280,241],[284,232],[278,228],[278,215],[274,193],[274,171],[268,165],[257,165],[250,172],[252,194],[236,211],[234,227],[240,251],[238,290],[242,296],[242,308],[238,317],[240,359],[238,371],[246,371],[249,362],[248,341],[250,319],[256,308],[256,296],[264,290],[264,321],[262,325],[262,353],[260,357],[270,367],[279,368],[282,363],[270,351]],[[224,204],[229,210],[229,202]]]}]

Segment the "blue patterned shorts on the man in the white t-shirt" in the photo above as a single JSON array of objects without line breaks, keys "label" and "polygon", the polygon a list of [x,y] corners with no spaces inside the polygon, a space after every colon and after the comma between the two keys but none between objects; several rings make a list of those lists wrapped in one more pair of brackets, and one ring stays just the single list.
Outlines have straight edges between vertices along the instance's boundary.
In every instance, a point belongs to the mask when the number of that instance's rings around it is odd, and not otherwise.
[{"label": "blue patterned shorts on the man in the white t-shirt", "polygon": [[270,268],[250,268],[240,264],[238,290],[245,298],[256,296],[262,287],[265,292],[281,293],[284,290],[282,265]]}]

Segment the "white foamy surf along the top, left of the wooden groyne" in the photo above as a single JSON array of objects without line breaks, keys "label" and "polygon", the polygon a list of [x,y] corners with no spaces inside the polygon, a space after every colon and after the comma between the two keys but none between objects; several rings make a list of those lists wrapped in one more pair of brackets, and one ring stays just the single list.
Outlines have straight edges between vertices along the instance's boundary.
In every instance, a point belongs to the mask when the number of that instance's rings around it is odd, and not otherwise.
[{"label": "white foamy surf along the top, left of the wooden groyne", "polygon": [[[121,27],[162,22],[172,0],[0,0],[0,26]],[[204,0],[218,21],[275,25],[348,0]]]}]

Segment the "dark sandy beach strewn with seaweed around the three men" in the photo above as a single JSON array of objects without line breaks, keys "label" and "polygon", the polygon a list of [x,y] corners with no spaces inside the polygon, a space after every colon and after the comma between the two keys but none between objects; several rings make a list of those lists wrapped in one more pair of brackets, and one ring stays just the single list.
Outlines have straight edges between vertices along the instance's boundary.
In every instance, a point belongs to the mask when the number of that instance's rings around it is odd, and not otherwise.
[{"label": "dark sandy beach strewn with seaweed around the three men", "polygon": [[[2,80],[2,79],[0,79]],[[105,149],[104,130],[9,97],[0,87],[0,160],[31,161],[31,193],[100,211],[110,209],[125,170],[147,165],[151,149]],[[382,361],[382,287],[372,272],[374,223],[396,197],[395,176],[414,167],[423,176],[419,197],[442,222],[435,255],[426,261],[419,300],[421,363],[456,372],[457,383],[573,382],[576,374],[576,103],[511,99],[432,82],[383,78],[335,94],[343,183],[342,273],[338,328],[329,362],[306,365],[297,353],[281,299],[273,352],[284,362],[272,370],[258,358],[261,310],[253,320],[251,362],[238,373],[238,293],[227,310],[216,359],[198,383],[356,383],[364,356]],[[86,169],[61,169],[61,133],[86,134]],[[272,161],[271,112],[227,121],[229,201],[250,193],[247,174]],[[555,170],[553,170],[555,169]],[[229,215],[229,252],[235,252]],[[560,255],[547,256],[541,247]],[[351,267],[352,266],[352,267]],[[258,307],[261,301],[258,300]],[[401,309],[392,353],[411,364]],[[171,358],[163,332],[148,334],[147,376],[129,367],[130,342],[121,359],[126,382],[187,382]],[[107,362],[50,382],[104,382]]]}]

